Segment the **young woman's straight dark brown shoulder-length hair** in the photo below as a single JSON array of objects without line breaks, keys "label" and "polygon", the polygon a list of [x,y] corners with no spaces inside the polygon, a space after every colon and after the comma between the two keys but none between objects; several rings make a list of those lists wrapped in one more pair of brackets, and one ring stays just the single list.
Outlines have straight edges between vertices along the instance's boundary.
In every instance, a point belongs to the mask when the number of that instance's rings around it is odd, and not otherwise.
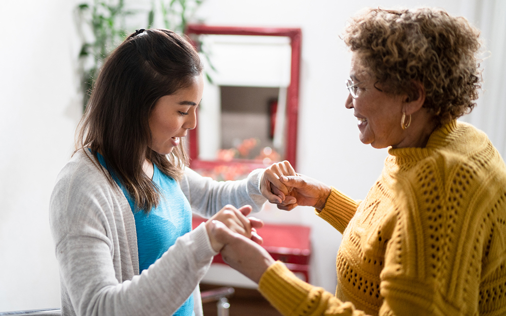
[{"label": "young woman's straight dark brown shoulder-length hair", "polygon": [[159,98],[188,87],[201,72],[193,46],[164,29],[137,30],[102,66],[77,129],[76,150],[100,153],[137,210],[149,212],[159,200],[157,188],[142,169],[145,159],[176,180],[188,163],[183,143],[169,155],[149,148],[149,115]]}]

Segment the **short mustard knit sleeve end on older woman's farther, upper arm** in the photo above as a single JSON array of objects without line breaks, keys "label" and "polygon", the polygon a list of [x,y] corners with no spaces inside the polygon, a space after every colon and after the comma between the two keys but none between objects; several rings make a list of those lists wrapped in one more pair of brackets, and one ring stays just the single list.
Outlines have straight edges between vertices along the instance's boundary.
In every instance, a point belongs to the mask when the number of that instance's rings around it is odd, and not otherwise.
[{"label": "short mustard knit sleeve end on older woman's farther, upper arm", "polygon": [[321,212],[316,209],[315,212],[343,234],[359,204],[360,201],[355,201],[332,187],[325,207]]}]

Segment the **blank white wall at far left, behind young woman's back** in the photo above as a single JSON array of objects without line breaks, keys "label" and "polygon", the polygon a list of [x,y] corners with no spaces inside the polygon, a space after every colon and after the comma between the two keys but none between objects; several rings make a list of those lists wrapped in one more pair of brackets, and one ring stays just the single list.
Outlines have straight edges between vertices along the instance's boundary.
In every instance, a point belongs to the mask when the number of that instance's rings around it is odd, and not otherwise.
[{"label": "blank white wall at far left, behind young woman's back", "polygon": [[60,306],[48,207],[79,119],[71,10],[0,2],[0,311]]}]

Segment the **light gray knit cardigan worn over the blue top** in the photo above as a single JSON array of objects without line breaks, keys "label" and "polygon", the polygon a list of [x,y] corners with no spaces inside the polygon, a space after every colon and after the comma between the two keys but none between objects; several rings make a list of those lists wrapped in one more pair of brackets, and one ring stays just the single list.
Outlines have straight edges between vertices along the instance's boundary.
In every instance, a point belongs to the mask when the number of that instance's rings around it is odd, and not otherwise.
[{"label": "light gray knit cardigan worn over the blue top", "polygon": [[[130,205],[87,153],[78,151],[63,167],[50,201],[62,314],[170,315],[194,292],[195,314],[201,315],[198,283],[216,255],[205,227],[178,238],[139,275]],[[266,201],[260,193],[262,171],[240,181],[216,182],[186,168],[179,184],[192,210],[204,217],[226,204],[249,204],[258,211]]]}]

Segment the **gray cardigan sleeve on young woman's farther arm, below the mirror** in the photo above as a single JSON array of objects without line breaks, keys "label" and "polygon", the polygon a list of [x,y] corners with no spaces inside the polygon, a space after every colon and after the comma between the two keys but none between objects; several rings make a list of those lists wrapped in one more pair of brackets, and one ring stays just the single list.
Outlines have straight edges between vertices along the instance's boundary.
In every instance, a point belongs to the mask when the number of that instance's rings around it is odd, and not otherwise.
[{"label": "gray cardigan sleeve on young woman's farther arm, below the mirror", "polygon": [[267,201],[260,192],[263,171],[264,169],[253,170],[242,180],[216,181],[187,167],[180,186],[192,211],[206,218],[213,216],[227,204],[237,208],[251,205],[253,212],[258,212]]}]

